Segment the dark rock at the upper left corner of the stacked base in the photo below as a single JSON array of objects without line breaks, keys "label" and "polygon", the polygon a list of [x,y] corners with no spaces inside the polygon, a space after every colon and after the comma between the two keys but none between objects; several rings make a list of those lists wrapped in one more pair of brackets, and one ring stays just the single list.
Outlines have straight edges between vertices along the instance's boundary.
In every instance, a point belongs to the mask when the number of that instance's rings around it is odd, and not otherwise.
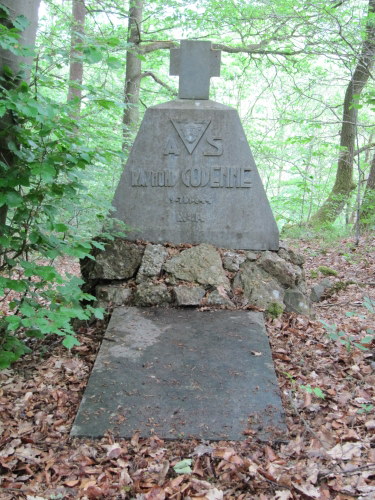
[{"label": "dark rock at the upper left corner of the stacked base", "polygon": [[143,247],[122,239],[108,244],[96,262],[88,278],[122,280],[133,278],[141,265]]}]

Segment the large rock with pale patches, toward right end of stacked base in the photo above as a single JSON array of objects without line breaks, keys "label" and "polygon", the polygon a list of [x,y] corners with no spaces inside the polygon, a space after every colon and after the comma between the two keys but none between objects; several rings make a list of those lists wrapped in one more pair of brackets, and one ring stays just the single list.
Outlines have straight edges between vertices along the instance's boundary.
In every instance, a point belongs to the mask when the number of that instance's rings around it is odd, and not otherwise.
[{"label": "large rock with pale patches, toward right end of stacked base", "polygon": [[267,309],[273,302],[283,303],[284,289],[279,282],[253,262],[242,264],[233,288],[242,288],[248,303]]}]

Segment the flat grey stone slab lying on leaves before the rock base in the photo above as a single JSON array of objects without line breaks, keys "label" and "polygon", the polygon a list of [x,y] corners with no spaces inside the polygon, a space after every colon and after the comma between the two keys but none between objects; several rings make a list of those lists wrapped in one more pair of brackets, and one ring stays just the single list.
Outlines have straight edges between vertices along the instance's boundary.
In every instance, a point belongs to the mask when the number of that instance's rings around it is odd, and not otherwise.
[{"label": "flat grey stone slab lying on leaves before the rock base", "polygon": [[286,433],[263,315],[119,307],[72,436],[241,440]]}]

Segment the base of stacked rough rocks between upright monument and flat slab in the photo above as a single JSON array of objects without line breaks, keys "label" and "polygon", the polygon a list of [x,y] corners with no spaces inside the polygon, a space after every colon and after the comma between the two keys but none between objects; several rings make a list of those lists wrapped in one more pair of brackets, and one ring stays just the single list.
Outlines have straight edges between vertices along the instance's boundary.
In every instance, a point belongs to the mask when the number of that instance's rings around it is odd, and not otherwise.
[{"label": "base of stacked rough rocks between upright monument and flat slab", "polygon": [[271,315],[310,313],[301,255],[226,250],[209,244],[154,245],[116,239],[81,262],[85,291],[98,305],[254,307]]}]

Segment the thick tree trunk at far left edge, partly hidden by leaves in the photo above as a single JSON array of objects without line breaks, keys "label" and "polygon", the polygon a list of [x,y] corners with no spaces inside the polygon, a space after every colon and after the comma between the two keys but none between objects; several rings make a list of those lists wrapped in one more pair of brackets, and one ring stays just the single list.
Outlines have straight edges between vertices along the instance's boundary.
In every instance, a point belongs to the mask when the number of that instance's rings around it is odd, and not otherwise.
[{"label": "thick tree trunk at far left edge, partly hidden by leaves", "polygon": [[[12,27],[12,20],[17,16],[25,16],[29,24],[20,35],[20,44],[34,47],[36,30],[38,27],[38,10],[40,0],[1,0],[1,5],[8,9],[10,16],[3,16],[1,14],[1,22],[7,26]],[[0,48],[0,78],[1,85],[9,90],[16,87],[19,82],[28,80],[30,76],[30,69],[32,64],[32,57],[21,57],[13,54],[10,50]],[[4,71],[4,66],[10,68],[12,75],[10,76]],[[14,126],[14,119],[10,113],[6,113],[0,119],[0,160],[4,162],[8,168],[12,168],[16,156],[9,150],[8,143],[12,136],[12,128]],[[1,191],[0,191],[1,196]],[[6,224],[8,213],[8,206],[2,205],[0,207],[0,234],[2,228]]]}]

